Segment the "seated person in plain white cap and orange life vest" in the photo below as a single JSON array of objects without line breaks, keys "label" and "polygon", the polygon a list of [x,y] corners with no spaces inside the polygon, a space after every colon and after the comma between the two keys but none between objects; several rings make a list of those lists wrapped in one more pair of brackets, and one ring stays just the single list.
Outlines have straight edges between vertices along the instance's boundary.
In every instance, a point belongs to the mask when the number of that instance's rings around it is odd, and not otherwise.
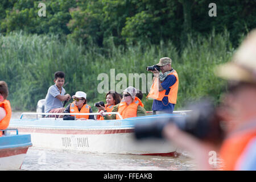
[{"label": "seated person in plain white cap and orange life vest", "polygon": [[[72,113],[93,112],[90,106],[86,104],[86,93],[78,91],[72,98],[74,101],[69,104],[64,111],[64,113],[71,113],[71,115],[64,115],[63,120],[75,120],[75,114]],[[94,115],[76,115],[76,119],[94,119]]]}]

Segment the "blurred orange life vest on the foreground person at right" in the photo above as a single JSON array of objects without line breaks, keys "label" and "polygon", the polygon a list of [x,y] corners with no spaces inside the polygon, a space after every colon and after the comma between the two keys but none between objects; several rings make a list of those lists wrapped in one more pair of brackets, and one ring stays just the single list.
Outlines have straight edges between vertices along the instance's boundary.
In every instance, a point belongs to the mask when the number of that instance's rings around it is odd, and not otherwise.
[{"label": "blurred orange life vest on the foreground person at right", "polygon": [[220,156],[224,160],[223,169],[225,171],[236,169],[238,159],[240,159],[247,144],[254,137],[256,137],[256,126],[246,131],[234,133],[224,140],[221,146]]}]

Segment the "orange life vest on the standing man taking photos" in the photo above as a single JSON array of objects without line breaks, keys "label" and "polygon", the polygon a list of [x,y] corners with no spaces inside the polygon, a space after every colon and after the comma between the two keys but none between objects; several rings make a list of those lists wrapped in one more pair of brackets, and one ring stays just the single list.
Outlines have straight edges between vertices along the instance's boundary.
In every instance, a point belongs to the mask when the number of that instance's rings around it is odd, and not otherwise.
[{"label": "orange life vest on the standing man taking photos", "polygon": [[[170,92],[168,95],[166,95],[167,90],[162,90],[159,92],[159,81],[155,80],[154,83],[151,85],[150,92],[148,93],[147,97],[153,98],[158,101],[162,101],[163,97],[168,96],[168,102],[172,104],[176,104],[177,101],[177,90],[179,88],[179,77],[177,75],[177,72],[174,70],[174,72],[168,74],[168,75],[174,75],[176,77],[176,82],[174,85],[170,86]],[[162,83],[162,82],[161,82]]]}]

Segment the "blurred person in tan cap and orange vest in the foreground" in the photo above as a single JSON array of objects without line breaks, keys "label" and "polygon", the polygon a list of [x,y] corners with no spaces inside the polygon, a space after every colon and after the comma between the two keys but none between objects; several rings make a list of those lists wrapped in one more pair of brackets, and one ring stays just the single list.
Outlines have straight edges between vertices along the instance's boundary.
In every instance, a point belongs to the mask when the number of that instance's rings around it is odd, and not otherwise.
[{"label": "blurred person in tan cap and orange vest in the foreground", "polygon": [[233,60],[220,65],[216,75],[229,81],[228,92],[216,108],[226,123],[220,148],[196,139],[168,124],[163,134],[171,142],[192,152],[200,170],[210,170],[209,152],[220,152],[223,170],[256,170],[256,29],[243,41]]}]

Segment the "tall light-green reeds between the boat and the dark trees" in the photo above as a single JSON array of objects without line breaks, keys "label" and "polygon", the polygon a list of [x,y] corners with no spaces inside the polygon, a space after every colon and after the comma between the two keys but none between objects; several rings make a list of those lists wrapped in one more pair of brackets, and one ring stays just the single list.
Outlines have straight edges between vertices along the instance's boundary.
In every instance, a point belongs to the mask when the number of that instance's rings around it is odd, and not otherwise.
[{"label": "tall light-green reeds between the boat and the dark trees", "polygon": [[[84,47],[71,40],[61,42],[57,35],[13,32],[0,35],[0,80],[9,84],[9,100],[14,110],[35,111],[37,101],[46,97],[53,84],[54,73],[64,71],[66,92],[71,96],[78,90],[86,92],[88,104],[96,111],[93,103],[105,99],[105,94],[97,92],[100,73],[110,77],[110,69],[115,69],[115,75],[125,73],[127,78],[129,73],[147,74],[148,65],[168,56],[180,79],[175,110],[202,96],[212,96],[217,103],[226,88],[225,82],[214,76],[213,68],[229,61],[234,52],[229,34],[212,32],[188,40],[187,46],[179,51],[170,41],[126,48],[110,42],[111,46],[98,48]],[[143,103],[146,110],[151,110],[152,100],[146,100],[146,95]]]}]

